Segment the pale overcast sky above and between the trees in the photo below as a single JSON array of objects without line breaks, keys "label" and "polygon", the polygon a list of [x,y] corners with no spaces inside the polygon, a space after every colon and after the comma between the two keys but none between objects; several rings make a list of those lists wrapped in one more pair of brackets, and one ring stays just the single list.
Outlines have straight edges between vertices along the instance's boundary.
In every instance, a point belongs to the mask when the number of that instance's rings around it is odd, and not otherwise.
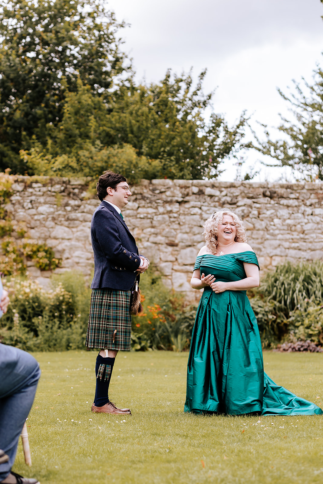
[{"label": "pale overcast sky above and between the trees", "polygon": [[[137,79],[159,81],[167,69],[193,75],[207,68],[204,91],[213,91],[214,111],[229,122],[246,109],[252,120],[278,125],[292,79],[311,80],[323,66],[323,5],[320,0],[109,0],[121,30],[124,50],[133,58]],[[291,179],[291,172],[263,168],[256,154],[247,163],[261,173],[254,181]],[[232,180],[227,169],[221,180]],[[244,170],[247,167],[243,168]]]}]

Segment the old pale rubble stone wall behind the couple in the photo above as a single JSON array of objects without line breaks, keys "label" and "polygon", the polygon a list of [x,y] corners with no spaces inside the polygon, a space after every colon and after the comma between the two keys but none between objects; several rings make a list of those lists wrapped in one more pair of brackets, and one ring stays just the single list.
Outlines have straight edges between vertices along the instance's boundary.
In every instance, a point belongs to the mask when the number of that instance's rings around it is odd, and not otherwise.
[{"label": "old pale rubble stone wall behind the couple", "polygon": [[[46,242],[62,257],[55,272],[92,271],[90,224],[99,200],[87,199],[87,183],[19,176],[12,185],[7,210],[12,219],[26,224],[31,238]],[[204,245],[203,222],[220,208],[244,220],[262,270],[284,260],[323,257],[323,183],[143,180],[131,191],[123,216],[139,252],[154,261],[165,284],[185,291],[189,299],[200,297],[189,280]],[[49,275],[32,266],[29,272],[41,282]]]}]

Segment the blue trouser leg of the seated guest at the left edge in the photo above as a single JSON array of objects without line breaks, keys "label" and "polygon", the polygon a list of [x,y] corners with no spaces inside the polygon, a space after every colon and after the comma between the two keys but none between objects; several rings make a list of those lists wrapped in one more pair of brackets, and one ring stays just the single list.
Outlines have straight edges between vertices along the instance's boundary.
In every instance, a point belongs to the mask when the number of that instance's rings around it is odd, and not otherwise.
[{"label": "blue trouser leg of the seated guest at the left edge", "polygon": [[9,462],[0,464],[0,481],[15,462],[19,436],[39,377],[39,365],[29,353],[0,344],[0,449],[9,455]]}]

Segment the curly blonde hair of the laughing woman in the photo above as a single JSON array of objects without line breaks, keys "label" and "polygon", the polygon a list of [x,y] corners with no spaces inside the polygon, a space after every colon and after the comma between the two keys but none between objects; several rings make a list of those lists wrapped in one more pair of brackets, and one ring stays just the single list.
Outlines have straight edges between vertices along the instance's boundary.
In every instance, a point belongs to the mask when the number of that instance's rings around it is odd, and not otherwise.
[{"label": "curly blonde hair of the laughing woman", "polygon": [[216,253],[217,246],[217,226],[222,222],[224,215],[230,215],[233,218],[233,222],[236,229],[236,235],[234,237],[234,242],[246,242],[245,227],[243,227],[242,222],[238,215],[231,212],[230,210],[220,210],[219,212],[214,212],[211,217],[209,217],[205,224],[203,225],[206,246],[212,254]]}]

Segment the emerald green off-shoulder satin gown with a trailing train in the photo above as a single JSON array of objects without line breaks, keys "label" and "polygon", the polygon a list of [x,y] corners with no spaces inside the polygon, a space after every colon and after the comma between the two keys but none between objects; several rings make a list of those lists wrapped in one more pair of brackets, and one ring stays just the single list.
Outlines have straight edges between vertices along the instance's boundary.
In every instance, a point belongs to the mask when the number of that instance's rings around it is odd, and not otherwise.
[{"label": "emerald green off-shoulder satin gown with a trailing train", "polygon": [[[198,256],[194,270],[217,281],[246,278],[252,251]],[[263,371],[257,319],[246,291],[205,287],[196,314],[187,365],[185,412],[241,415],[313,415],[323,410],[274,383]]]}]

